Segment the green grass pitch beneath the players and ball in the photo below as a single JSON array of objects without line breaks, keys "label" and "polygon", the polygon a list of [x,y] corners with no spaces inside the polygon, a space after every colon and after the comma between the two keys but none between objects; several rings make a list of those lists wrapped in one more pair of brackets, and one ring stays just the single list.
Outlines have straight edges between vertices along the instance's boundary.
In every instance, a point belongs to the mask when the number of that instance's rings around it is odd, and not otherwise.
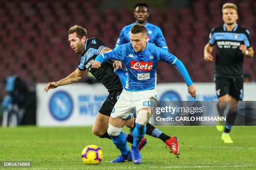
[{"label": "green grass pitch beneath the players and ball", "polygon": [[[0,128],[0,161],[30,161],[31,168],[21,169],[256,169],[256,127],[233,127],[233,144],[220,141],[215,127],[158,127],[179,138],[180,155],[156,138],[149,137],[141,151],[142,163],[110,164],[120,152],[111,140],[92,134],[92,127],[79,128]],[[125,131],[128,131],[126,128]],[[103,151],[99,165],[84,165],[81,153],[87,145]],[[129,145],[131,148],[131,145]],[[1,168],[0,168],[1,169]],[[6,168],[4,168],[6,169]],[[8,168],[12,169],[12,168]],[[17,168],[13,168],[17,169]]]}]

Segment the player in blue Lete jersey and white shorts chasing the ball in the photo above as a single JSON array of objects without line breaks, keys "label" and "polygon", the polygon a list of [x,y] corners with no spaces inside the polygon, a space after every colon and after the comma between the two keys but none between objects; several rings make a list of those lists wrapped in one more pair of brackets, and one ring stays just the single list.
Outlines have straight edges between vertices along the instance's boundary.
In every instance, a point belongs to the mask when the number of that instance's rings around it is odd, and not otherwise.
[{"label": "player in blue Lete jersey and white shorts chasing the ball", "polygon": [[[111,163],[123,163],[133,160],[140,164],[142,161],[138,145],[146,132],[146,123],[152,115],[152,102],[157,100],[155,90],[156,65],[162,60],[174,65],[184,77],[188,92],[192,97],[196,97],[196,89],[190,79],[186,68],[182,62],[174,55],[147,42],[147,30],[144,25],[136,24],[131,28],[131,42],[120,45],[107,53],[98,55],[92,66],[100,68],[101,63],[108,60],[119,60],[125,64],[127,80],[124,90],[110,115],[108,134],[113,143],[120,150],[118,156]],[[136,127],[133,130],[133,145],[131,152],[126,143],[126,138],[121,133],[128,117],[136,110]],[[177,141],[173,137],[173,141]],[[179,147],[177,143],[172,143],[174,154],[177,154]]]}]

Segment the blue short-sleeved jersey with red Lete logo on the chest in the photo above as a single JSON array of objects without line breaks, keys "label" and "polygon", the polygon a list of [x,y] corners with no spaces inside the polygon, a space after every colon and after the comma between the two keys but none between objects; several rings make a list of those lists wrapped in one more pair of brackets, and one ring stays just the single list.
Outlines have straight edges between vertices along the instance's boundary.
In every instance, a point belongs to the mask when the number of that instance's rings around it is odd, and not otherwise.
[{"label": "blue short-sleeved jersey with red Lete logo on the chest", "polygon": [[124,89],[127,91],[154,89],[157,63],[162,60],[174,64],[177,60],[174,55],[152,43],[147,43],[142,52],[135,52],[129,42],[115,47],[102,56],[106,60],[119,60],[124,63],[127,72]]}]

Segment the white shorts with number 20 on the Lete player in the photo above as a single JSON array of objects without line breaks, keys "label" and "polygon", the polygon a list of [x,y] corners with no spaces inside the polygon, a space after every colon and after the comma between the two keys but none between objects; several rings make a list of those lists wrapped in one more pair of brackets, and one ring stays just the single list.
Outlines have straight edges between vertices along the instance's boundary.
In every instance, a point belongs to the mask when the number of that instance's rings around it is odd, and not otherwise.
[{"label": "white shorts with number 20 on the Lete player", "polygon": [[124,119],[128,118],[143,107],[154,109],[154,103],[158,99],[156,90],[145,90],[145,91],[126,91],[123,89],[118,101],[111,112],[111,117]]}]

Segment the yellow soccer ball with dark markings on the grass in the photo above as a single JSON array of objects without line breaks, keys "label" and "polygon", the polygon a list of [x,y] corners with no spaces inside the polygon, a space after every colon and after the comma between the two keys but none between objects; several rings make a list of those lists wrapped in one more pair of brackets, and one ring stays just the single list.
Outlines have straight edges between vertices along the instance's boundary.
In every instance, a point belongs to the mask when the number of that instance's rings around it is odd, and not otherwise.
[{"label": "yellow soccer ball with dark markings on the grass", "polygon": [[81,156],[82,156],[82,161],[86,165],[98,165],[103,158],[103,153],[98,146],[88,145],[82,151]]}]

